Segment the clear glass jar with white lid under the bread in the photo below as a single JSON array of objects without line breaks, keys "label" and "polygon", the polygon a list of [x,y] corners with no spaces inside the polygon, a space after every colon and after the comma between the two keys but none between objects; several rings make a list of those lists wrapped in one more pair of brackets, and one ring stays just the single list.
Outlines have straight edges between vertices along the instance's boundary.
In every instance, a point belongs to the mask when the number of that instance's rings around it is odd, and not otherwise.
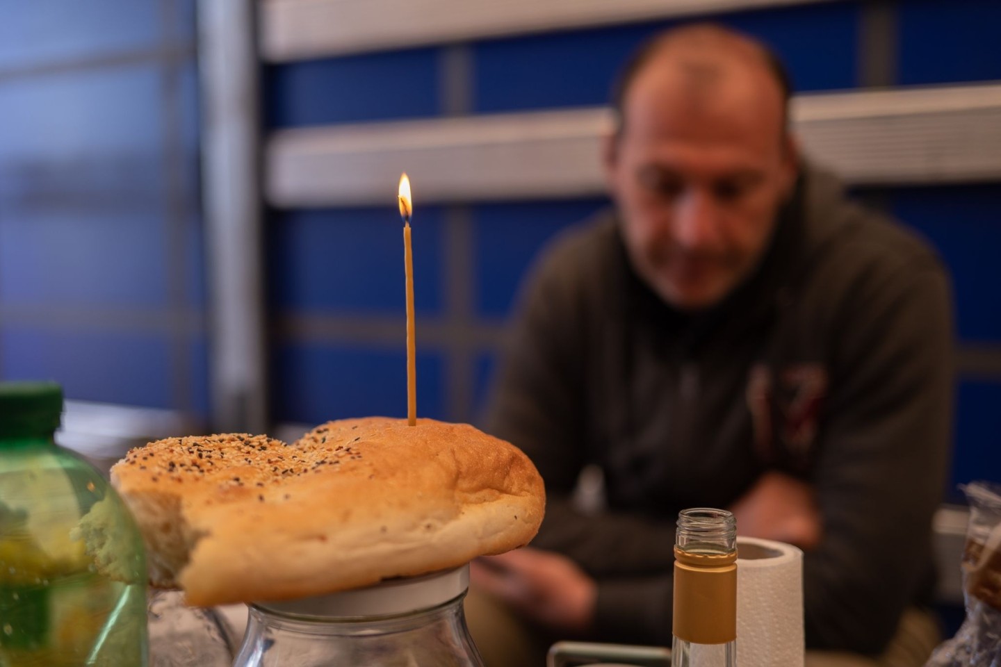
[{"label": "clear glass jar with white lid under the bread", "polygon": [[234,667],[482,667],[462,613],[468,565],[250,605]]}]

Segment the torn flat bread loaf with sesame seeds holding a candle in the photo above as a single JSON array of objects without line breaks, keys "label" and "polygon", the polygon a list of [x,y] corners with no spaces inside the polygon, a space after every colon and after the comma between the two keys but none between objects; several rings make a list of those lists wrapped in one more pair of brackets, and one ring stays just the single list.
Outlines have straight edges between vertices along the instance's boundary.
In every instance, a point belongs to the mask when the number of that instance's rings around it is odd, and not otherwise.
[{"label": "torn flat bread loaf with sesame seeds holding a candle", "polygon": [[527,544],[543,481],[513,445],[465,424],[333,421],[264,436],[159,440],[111,469],[150,579],[207,606],[331,593]]}]

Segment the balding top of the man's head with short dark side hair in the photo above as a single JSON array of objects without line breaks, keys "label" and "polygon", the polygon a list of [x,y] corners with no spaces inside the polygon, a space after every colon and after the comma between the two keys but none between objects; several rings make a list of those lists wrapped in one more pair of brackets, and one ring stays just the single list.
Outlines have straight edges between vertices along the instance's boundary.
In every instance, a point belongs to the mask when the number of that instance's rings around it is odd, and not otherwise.
[{"label": "balding top of the man's head with short dark side hair", "polygon": [[673,82],[679,98],[692,106],[719,97],[721,91],[744,79],[756,86],[757,96],[774,95],[768,101],[780,105],[785,134],[791,94],[789,76],[778,56],[752,37],[700,23],[669,30],[646,42],[626,63],[613,91],[618,134],[625,127],[630,91],[641,75],[656,76],[666,84]]}]

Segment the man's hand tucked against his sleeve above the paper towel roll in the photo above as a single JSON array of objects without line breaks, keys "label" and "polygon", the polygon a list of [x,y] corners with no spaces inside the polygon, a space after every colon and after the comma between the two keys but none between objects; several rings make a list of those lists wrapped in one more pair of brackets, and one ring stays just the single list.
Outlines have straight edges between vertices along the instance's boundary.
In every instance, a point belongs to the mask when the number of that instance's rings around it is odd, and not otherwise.
[{"label": "man's hand tucked against his sleeve above the paper towel roll", "polygon": [[730,510],[737,533],[795,544],[809,551],[820,544],[823,526],[813,487],[780,472],[767,472]]}]

